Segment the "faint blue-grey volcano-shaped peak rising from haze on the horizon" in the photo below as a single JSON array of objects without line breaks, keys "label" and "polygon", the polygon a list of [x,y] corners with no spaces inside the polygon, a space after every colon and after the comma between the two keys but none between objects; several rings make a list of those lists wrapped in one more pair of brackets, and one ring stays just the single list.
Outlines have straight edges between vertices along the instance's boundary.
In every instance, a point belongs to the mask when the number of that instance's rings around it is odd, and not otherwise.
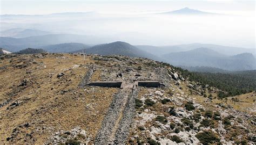
[{"label": "faint blue-grey volcano-shaped peak rising from haze on the horizon", "polygon": [[180,10],[164,12],[163,14],[217,14],[217,13],[210,13],[210,12],[204,12],[204,11],[194,10],[190,8],[183,8]]}]

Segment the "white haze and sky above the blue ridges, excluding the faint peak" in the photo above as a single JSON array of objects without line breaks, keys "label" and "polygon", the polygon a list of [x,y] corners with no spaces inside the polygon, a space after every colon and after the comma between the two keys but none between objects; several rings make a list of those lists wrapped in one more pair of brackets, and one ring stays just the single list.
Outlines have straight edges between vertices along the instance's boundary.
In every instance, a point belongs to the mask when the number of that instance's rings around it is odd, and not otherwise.
[{"label": "white haze and sky above the blue ridges, excluding the faint peak", "polygon": [[[32,28],[52,33],[93,35],[133,45],[218,44],[255,48],[254,1],[0,1],[1,31]],[[188,7],[214,15],[158,14]],[[62,12],[87,12],[50,15]],[[90,42],[84,42],[90,44]]]}]

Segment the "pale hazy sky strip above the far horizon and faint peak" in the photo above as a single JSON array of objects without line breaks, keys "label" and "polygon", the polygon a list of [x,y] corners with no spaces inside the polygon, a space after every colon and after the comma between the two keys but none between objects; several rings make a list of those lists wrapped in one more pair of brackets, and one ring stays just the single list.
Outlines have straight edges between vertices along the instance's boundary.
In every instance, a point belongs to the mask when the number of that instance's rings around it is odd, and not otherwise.
[{"label": "pale hazy sky strip above the far horizon and faint peak", "polygon": [[190,7],[223,13],[254,12],[255,1],[49,1],[0,0],[2,14],[45,14],[57,12],[155,12]]}]

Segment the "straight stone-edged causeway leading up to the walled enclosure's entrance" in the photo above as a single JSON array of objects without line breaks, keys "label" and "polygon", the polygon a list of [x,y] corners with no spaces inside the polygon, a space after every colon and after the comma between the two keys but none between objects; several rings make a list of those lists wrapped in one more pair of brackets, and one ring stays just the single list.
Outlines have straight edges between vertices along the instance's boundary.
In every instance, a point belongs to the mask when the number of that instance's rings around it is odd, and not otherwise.
[{"label": "straight stone-edged causeway leading up to the walled enclosure's entrance", "polygon": [[113,98],[95,139],[95,144],[124,144],[135,113],[137,89],[122,89]]}]

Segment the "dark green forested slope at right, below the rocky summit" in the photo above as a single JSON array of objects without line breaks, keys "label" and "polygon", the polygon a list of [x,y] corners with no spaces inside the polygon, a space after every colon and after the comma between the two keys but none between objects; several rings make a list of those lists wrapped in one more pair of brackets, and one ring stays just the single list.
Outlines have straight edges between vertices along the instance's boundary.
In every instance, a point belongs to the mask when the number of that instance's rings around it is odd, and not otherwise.
[{"label": "dark green forested slope at right, below the rocky summit", "polygon": [[256,70],[233,71],[232,73],[198,73],[181,68],[177,69],[190,81],[199,82],[204,85],[208,84],[226,91],[226,93],[219,92],[219,98],[256,91]]}]

